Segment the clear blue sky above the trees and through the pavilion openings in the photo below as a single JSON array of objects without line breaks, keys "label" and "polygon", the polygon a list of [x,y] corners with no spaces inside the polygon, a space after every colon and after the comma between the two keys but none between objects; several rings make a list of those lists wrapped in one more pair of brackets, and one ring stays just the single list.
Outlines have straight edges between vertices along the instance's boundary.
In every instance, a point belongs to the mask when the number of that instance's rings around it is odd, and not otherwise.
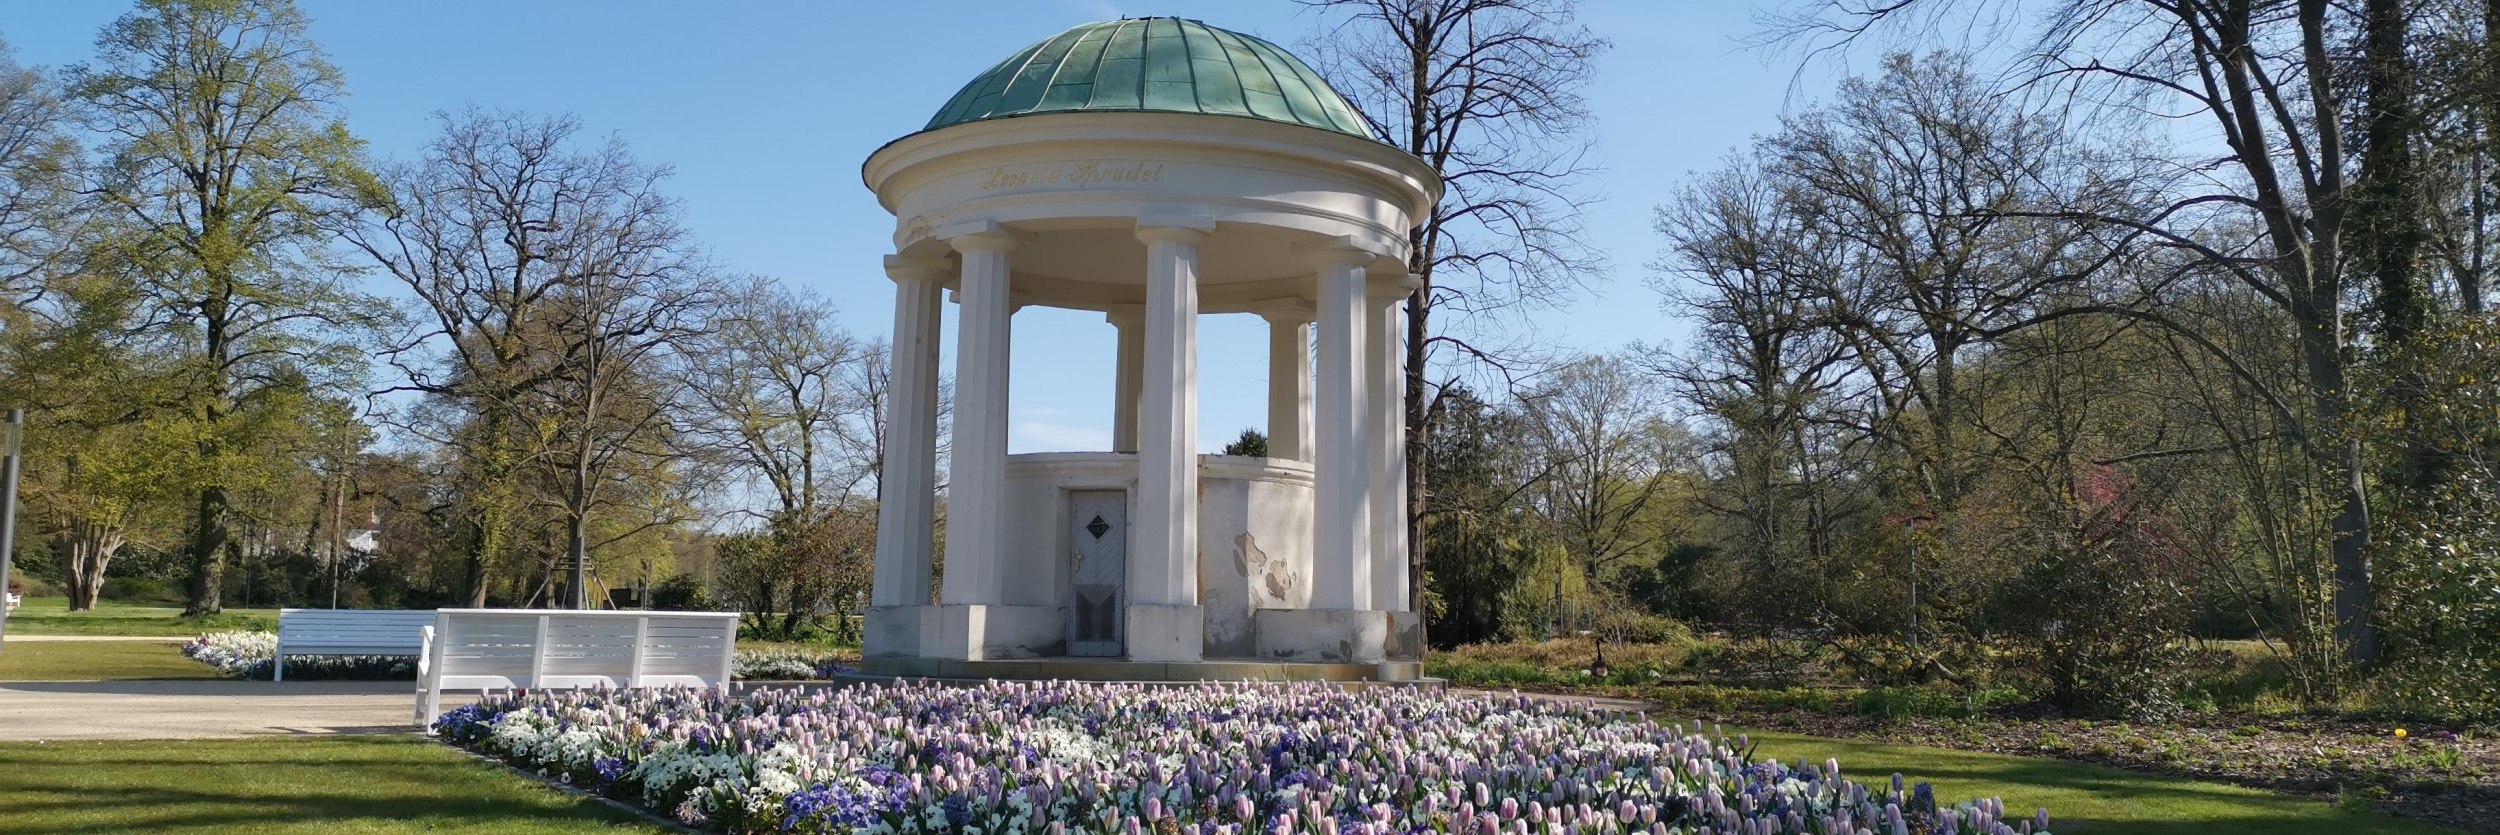
[{"label": "clear blue sky above the trees and through the pavilion openings", "polygon": [[[1320,20],[1290,0],[920,0],[920,2],[618,2],[618,0],[302,0],[312,35],[348,78],[350,128],[375,158],[410,158],[435,110],[462,105],[572,112],[588,132],[678,168],[688,222],[740,272],[812,288],[842,325],[885,335],[892,285],[880,258],[892,218],[860,185],[860,160],[918,130],[958,85],[1062,28],[1120,15],[1182,15],[1295,48]],[[92,55],[125,2],[0,8],[18,60],[62,68]],[[1645,285],[1658,252],[1650,208],[1768,132],[1792,58],[1742,50],[1740,0],[1592,0],[1582,20],[1615,42],[1590,105],[1605,168],[1588,232],[1612,270],[1585,298],[1520,328],[1582,352],[1668,342],[1682,322]],[[1798,82],[1795,88],[1790,82]],[[388,290],[388,288],[385,288]],[[952,310],[948,310],[952,332]],[[1200,328],[1200,448],[1265,420],[1265,325],[1212,315]],[[952,368],[952,358],[945,360]],[[1015,318],[1018,452],[1110,448],[1112,330],[1100,315],[1025,308]]]}]

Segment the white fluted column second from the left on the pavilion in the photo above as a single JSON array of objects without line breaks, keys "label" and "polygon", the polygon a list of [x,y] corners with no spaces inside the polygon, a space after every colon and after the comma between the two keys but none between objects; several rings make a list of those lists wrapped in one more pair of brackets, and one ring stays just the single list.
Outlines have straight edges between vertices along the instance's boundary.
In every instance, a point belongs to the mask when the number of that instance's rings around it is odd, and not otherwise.
[{"label": "white fluted column second from the left on the pavilion", "polygon": [[1008,345],[1012,300],[1008,252],[1015,238],[972,232],[948,240],[962,252],[955,288],[955,442],[948,468],[945,590],[940,602],[1000,602],[1008,552]]}]

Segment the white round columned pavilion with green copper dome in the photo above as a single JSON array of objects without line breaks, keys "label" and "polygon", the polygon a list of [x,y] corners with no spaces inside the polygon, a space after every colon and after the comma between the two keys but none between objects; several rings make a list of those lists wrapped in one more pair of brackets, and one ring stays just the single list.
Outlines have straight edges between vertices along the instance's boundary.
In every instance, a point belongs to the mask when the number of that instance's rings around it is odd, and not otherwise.
[{"label": "white round columned pavilion with green copper dome", "polygon": [[[1140,18],[1008,55],[862,178],[895,215],[865,675],[1420,678],[1398,300],[1432,168],[1292,52]],[[1030,305],[1118,330],[1112,450],[1008,455],[1008,345]],[[1268,320],[1268,458],[1195,450],[1210,312]]]}]

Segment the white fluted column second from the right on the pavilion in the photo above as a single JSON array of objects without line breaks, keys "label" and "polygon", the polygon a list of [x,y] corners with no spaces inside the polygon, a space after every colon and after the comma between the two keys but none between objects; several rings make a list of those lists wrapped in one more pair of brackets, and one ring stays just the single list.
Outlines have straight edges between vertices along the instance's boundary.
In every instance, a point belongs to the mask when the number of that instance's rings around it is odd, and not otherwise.
[{"label": "white fluted column second from the right on the pavilion", "polygon": [[1372,605],[1370,568],[1370,412],[1362,385],[1362,332],[1370,318],[1362,268],[1372,252],[1312,252],[1320,270],[1320,385],[1312,415],[1312,465],[1320,480],[1312,525],[1312,610]]}]

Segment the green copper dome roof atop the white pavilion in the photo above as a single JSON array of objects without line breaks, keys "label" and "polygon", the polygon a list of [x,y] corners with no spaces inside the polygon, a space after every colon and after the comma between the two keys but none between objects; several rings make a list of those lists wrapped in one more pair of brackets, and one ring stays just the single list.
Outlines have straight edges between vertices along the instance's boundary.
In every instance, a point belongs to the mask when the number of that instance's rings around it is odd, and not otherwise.
[{"label": "green copper dome roof atop the white pavilion", "polygon": [[955,90],[922,130],[1035,112],[1242,115],[1378,140],[1292,52],[1180,18],[1088,22],[1035,42]]}]

